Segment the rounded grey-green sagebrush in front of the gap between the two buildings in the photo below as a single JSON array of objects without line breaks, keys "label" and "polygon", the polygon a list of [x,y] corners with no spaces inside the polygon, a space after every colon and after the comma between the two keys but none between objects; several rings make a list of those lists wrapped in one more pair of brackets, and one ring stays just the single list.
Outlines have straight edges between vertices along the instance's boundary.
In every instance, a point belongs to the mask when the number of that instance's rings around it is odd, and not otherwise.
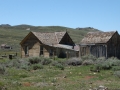
[{"label": "rounded grey-green sagebrush in front of the gap between the two buildings", "polygon": [[68,65],[77,66],[82,64],[82,60],[80,58],[70,58],[66,61],[66,63]]}]

